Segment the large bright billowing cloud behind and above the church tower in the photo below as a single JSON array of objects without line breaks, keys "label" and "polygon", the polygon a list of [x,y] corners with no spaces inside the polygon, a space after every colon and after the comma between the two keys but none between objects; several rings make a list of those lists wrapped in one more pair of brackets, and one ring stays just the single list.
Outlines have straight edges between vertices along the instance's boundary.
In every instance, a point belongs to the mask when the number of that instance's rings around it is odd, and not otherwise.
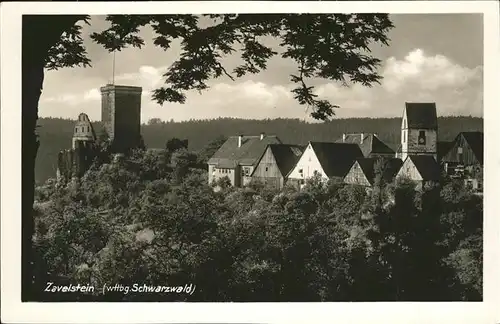
[{"label": "large bright billowing cloud behind and above the church tower", "polygon": [[461,66],[422,49],[402,59],[389,57],[380,70],[381,85],[343,87],[323,83],[316,94],[339,105],[342,117],[399,116],[405,102],[436,102],[439,115],[483,114],[483,68]]}]

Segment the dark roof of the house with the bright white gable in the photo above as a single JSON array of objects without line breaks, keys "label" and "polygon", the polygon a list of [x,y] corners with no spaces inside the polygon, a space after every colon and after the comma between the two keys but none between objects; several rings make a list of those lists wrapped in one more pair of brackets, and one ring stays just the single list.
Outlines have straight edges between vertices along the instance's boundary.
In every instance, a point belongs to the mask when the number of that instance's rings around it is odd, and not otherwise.
[{"label": "dark roof of the house with the bright white gable", "polygon": [[363,157],[357,144],[310,142],[319,163],[328,177],[344,177],[354,164]]}]

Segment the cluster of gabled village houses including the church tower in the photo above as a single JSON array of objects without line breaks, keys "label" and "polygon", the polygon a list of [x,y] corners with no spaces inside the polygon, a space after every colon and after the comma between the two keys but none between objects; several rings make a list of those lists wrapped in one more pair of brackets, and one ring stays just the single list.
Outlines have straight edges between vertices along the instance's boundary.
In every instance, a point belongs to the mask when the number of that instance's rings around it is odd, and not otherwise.
[{"label": "cluster of gabled village houses including the church tower", "polygon": [[437,133],[434,103],[406,103],[396,151],[372,133],[343,134],[332,142],[307,145],[282,143],[274,135],[231,136],[208,161],[208,178],[212,183],[227,177],[237,187],[255,181],[300,188],[320,176],[370,187],[382,159],[387,181],[406,177],[423,184],[439,181],[442,172],[471,178],[483,164],[483,133],[460,133],[452,142],[438,142]]}]

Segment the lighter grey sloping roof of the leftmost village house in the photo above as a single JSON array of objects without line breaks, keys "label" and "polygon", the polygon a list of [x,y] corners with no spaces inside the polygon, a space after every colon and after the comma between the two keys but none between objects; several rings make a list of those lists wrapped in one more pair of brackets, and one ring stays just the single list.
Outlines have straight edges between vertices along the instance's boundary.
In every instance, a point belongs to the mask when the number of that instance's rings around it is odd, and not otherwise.
[{"label": "lighter grey sloping roof of the leftmost village house", "polygon": [[269,144],[281,144],[281,141],[274,135],[266,135],[262,140],[260,136],[243,136],[241,147],[238,147],[238,136],[231,136],[208,160],[208,164],[219,168],[254,165]]}]

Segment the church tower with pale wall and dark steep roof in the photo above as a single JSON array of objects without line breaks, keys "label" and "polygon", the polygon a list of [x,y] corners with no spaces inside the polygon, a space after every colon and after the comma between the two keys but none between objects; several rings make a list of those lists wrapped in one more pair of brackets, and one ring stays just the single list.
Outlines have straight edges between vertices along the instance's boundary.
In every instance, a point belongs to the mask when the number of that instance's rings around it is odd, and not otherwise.
[{"label": "church tower with pale wall and dark steep roof", "polygon": [[437,112],[435,103],[406,103],[401,123],[401,159],[430,155],[437,160]]}]

